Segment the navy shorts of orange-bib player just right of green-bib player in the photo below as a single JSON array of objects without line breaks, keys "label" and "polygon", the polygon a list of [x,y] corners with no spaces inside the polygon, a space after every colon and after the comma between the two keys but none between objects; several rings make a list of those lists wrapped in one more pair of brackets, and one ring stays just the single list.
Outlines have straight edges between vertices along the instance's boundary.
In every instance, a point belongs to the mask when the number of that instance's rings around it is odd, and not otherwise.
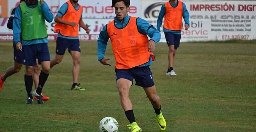
[{"label": "navy shorts of orange-bib player just right of green-bib player", "polygon": [[57,38],[56,54],[64,55],[66,49],[70,53],[71,50],[81,52],[79,39]]}]

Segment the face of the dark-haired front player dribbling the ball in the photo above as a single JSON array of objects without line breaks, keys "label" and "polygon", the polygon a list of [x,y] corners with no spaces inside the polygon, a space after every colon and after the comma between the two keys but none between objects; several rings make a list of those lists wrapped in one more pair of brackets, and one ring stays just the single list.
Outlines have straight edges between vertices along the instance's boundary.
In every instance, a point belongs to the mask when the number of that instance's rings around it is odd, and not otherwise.
[{"label": "face of the dark-haired front player dribbling the ball", "polygon": [[126,15],[128,15],[129,10],[130,7],[126,7],[123,1],[115,4],[115,14],[118,20],[122,20]]}]

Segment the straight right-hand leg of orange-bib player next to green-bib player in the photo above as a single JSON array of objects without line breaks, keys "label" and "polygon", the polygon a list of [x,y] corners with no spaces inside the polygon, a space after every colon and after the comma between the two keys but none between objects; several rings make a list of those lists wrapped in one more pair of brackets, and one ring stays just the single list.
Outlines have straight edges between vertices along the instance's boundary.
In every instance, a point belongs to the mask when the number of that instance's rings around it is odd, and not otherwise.
[{"label": "straight right-hand leg of orange-bib player next to green-bib player", "polygon": [[78,83],[79,72],[80,72],[80,56],[81,49],[78,39],[69,39],[70,45],[68,46],[68,52],[71,54],[73,59],[73,69],[72,69],[72,77],[73,84],[71,86],[71,90],[85,90],[80,87],[80,83]]}]

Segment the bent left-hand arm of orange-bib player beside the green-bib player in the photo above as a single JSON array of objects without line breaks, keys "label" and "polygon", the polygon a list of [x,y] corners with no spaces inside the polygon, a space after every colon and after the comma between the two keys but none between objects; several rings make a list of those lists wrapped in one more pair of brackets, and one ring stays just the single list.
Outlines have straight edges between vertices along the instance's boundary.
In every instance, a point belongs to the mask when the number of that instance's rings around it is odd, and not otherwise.
[{"label": "bent left-hand arm of orange-bib player beside the green-bib player", "polygon": [[57,15],[55,16],[54,21],[57,23],[66,24],[74,27],[76,25],[75,22],[69,22],[62,19],[62,16],[64,16],[67,12],[67,8],[68,8],[67,3],[64,3],[61,6],[60,10],[58,11]]}]

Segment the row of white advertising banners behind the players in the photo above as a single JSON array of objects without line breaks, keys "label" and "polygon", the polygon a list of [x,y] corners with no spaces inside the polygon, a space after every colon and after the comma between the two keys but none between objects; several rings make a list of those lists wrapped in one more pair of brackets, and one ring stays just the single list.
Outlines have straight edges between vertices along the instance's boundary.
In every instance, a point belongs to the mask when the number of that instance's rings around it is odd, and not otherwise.
[{"label": "row of white advertising banners behind the players", "polygon": [[[45,0],[54,16],[66,0]],[[133,0],[130,16],[148,20],[155,27],[161,6],[167,0]],[[256,1],[205,1],[183,0],[190,14],[190,28],[181,32],[181,42],[256,39]],[[0,0],[0,41],[12,39],[12,30],[7,29],[8,16],[17,7],[19,0]],[[90,25],[90,35],[79,29],[80,39],[97,40],[102,27],[115,16],[109,0],[79,0],[83,6],[83,20]],[[164,23],[164,21],[163,21]],[[163,24],[162,23],[162,24]],[[184,25],[184,21],[183,21]],[[49,40],[56,40],[53,32],[55,22],[48,23]],[[161,27],[161,42],[166,42]]]}]

